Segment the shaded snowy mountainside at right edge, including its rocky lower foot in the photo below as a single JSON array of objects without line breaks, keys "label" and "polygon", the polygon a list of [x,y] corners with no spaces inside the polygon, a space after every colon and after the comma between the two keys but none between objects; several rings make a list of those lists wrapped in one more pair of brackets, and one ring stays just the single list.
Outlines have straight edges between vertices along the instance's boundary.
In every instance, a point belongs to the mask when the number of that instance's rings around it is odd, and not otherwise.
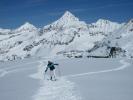
[{"label": "shaded snowy mountainside at right edge, including its rocky lower foot", "polygon": [[103,41],[97,43],[93,55],[108,55],[111,47],[118,49],[120,56],[133,57],[133,19],[122,27],[108,34]]}]

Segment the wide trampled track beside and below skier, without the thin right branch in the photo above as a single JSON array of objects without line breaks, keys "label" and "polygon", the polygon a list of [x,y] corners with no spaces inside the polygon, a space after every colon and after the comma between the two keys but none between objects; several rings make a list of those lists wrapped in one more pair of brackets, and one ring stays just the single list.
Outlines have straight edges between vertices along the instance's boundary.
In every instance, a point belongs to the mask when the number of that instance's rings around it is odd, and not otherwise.
[{"label": "wide trampled track beside and below skier, without the thin right branch", "polygon": [[[44,65],[40,61],[38,73],[30,75],[30,77],[39,79],[41,87],[37,94],[33,96],[33,100],[81,100],[81,97],[76,92],[75,84],[66,78],[59,78],[57,81],[46,80],[44,77]],[[44,66],[44,67],[43,67]]]}]

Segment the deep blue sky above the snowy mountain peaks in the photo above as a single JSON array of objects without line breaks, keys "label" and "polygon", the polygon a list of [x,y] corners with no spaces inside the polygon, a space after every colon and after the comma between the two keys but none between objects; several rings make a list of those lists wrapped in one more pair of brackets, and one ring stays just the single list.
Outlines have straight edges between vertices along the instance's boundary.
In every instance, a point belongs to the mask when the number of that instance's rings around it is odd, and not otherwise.
[{"label": "deep blue sky above the snowy mountain peaks", "polygon": [[0,27],[17,28],[25,22],[42,27],[66,10],[87,23],[99,18],[121,23],[133,18],[133,0],[0,0]]}]

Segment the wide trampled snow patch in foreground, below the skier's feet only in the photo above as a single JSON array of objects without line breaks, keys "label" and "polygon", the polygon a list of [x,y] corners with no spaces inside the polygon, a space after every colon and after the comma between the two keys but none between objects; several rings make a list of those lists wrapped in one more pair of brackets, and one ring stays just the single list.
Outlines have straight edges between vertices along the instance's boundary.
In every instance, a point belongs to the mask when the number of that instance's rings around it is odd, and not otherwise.
[{"label": "wide trampled snow patch in foreground, below the skier's feet only", "polygon": [[73,91],[74,87],[74,83],[64,78],[57,82],[47,81],[40,87],[37,95],[33,96],[33,100],[81,100]]}]

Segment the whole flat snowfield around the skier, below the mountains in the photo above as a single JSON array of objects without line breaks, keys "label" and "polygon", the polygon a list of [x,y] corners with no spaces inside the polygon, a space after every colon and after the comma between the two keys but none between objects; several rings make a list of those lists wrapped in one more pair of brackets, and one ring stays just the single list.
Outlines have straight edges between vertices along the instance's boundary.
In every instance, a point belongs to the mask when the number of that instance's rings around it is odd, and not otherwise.
[{"label": "whole flat snowfield around the skier, below the mountains", "polygon": [[[61,77],[44,80],[48,58],[0,63],[3,100],[132,100],[132,59],[52,59]],[[6,72],[6,73],[5,73]],[[5,74],[4,74],[5,73]],[[10,84],[9,84],[10,83]]]}]

